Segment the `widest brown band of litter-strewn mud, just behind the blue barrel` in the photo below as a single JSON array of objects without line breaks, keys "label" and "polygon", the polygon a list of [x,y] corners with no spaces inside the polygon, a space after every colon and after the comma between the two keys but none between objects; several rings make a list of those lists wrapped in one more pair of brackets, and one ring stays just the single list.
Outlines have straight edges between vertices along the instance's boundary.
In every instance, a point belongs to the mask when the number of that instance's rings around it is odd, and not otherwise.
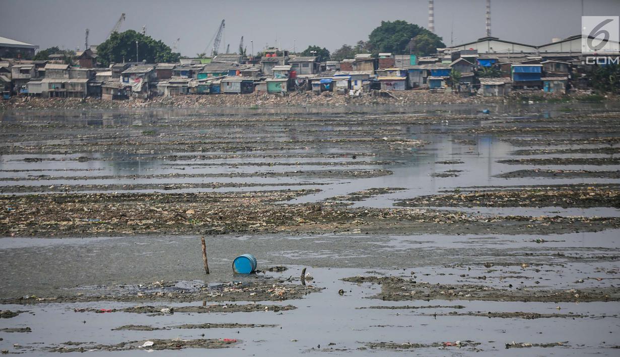
[{"label": "widest brown band of litter-strewn mud, just behind the blue barrel", "polygon": [[[1,196],[3,236],[114,234],[327,233],[364,230],[546,234],[598,231],[620,218],[492,216],[428,209],[365,209],[278,204],[311,190],[197,194],[48,194]],[[239,217],[244,217],[239,220]]]}]

